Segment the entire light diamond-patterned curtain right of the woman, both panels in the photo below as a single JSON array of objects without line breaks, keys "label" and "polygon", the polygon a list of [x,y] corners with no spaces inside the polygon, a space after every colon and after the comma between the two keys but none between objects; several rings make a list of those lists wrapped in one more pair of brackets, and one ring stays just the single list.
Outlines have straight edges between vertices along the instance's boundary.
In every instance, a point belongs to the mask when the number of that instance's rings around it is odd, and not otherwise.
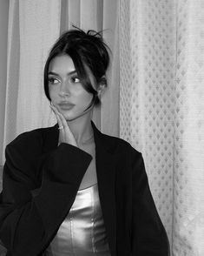
[{"label": "entire light diamond-patterned curtain right of the woman, both panels", "polygon": [[145,158],[174,256],[204,255],[204,2],[121,0],[120,135]]}]

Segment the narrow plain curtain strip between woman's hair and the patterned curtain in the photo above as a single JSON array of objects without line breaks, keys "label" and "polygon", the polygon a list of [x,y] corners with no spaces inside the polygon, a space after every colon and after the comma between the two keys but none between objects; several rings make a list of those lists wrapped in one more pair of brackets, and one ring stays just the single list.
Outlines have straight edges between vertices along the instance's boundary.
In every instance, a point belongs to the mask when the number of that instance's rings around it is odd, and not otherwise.
[{"label": "narrow plain curtain strip between woman's hair and the patterned curtain", "polygon": [[[115,15],[114,15],[115,14]],[[103,0],[103,38],[110,48],[108,88],[102,95],[101,130],[119,136],[120,115],[120,53],[119,53],[119,2]],[[111,110],[111,111],[110,111]]]}]

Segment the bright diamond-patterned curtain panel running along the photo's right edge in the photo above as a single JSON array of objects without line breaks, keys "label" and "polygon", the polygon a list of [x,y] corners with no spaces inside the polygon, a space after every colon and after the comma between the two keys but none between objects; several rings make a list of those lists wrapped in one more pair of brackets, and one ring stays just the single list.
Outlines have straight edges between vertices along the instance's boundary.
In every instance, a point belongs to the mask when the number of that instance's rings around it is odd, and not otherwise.
[{"label": "bright diamond-patterned curtain panel running along the photo's right edge", "polygon": [[177,1],[175,256],[204,255],[204,2]]}]

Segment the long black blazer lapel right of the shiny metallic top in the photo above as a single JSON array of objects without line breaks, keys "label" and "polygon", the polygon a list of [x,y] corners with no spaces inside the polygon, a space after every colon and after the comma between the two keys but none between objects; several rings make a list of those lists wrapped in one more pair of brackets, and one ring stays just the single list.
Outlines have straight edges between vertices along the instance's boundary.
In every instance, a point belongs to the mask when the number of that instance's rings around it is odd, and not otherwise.
[{"label": "long black blazer lapel right of the shiny metallic top", "polygon": [[115,158],[107,138],[98,131],[93,122],[95,137],[95,163],[98,180],[102,215],[109,240],[111,255],[115,255],[116,246],[116,212],[115,212]]}]

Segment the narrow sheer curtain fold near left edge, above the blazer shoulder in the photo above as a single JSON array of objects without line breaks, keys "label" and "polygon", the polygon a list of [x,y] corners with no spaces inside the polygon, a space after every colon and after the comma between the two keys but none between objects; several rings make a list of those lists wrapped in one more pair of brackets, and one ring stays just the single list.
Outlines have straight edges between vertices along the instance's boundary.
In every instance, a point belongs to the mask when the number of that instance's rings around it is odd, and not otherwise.
[{"label": "narrow sheer curtain fold near left edge, above the blazer shoulder", "polygon": [[7,145],[16,135],[16,105],[20,57],[20,36],[18,20],[19,2],[16,0],[10,0],[2,164],[4,162],[5,145]]}]

